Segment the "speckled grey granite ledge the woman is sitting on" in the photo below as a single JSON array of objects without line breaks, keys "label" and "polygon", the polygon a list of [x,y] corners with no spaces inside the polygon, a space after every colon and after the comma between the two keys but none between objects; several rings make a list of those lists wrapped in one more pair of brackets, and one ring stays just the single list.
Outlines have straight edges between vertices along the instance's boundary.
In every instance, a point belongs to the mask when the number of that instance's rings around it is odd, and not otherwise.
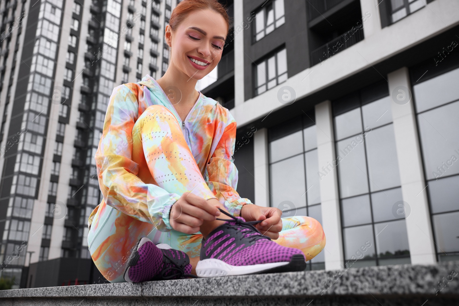
[{"label": "speckled grey granite ledge the woman is sitting on", "polygon": [[[442,285],[441,285],[442,284]],[[459,261],[333,271],[253,274],[144,283],[93,284],[0,291],[2,299],[25,297],[287,297],[445,296],[459,299]],[[1,302],[0,302],[1,304]]]}]

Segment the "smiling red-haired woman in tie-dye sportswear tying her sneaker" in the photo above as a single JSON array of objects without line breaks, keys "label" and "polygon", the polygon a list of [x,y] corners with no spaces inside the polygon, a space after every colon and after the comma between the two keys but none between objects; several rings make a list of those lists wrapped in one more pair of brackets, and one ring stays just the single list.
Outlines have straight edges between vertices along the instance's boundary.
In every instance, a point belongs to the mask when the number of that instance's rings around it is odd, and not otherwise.
[{"label": "smiling red-haired woman in tie-dye sportswear tying her sneaker", "polygon": [[112,283],[299,271],[325,246],[315,219],[280,218],[235,191],[236,122],[195,90],[228,29],[217,1],[180,2],[165,74],[113,90],[95,153],[103,200],[88,220],[91,257]]}]

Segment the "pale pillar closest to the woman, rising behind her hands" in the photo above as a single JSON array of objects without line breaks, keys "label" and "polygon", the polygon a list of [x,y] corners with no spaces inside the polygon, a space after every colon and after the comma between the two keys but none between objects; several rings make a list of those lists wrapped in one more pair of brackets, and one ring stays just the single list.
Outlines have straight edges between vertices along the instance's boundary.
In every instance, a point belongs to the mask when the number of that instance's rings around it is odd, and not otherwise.
[{"label": "pale pillar closest to the woman, rising behind her hands", "polygon": [[268,130],[259,128],[253,134],[253,168],[255,200],[258,206],[269,206]]}]

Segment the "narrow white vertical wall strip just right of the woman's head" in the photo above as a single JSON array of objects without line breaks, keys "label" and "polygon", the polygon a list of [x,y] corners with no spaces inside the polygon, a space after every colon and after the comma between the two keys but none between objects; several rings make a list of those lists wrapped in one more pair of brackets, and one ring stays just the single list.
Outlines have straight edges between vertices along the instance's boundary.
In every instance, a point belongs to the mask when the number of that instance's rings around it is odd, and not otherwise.
[{"label": "narrow white vertical wall strip just right of the woman's head", "polygon": [[234,106],[244,103],[244,7],[242,0],[234,1]]}]

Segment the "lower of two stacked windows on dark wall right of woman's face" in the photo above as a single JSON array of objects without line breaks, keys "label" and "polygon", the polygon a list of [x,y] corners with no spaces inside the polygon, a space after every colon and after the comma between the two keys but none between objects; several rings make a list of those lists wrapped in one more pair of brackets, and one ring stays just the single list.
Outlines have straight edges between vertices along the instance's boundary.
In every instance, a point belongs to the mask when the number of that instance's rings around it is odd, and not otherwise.
[{"label": "lower of two stacked windows on dark wall right of woman's face", "polygon": [[266,90],[284,82],[287,79],[286,50],[282,49],[267,60],[259,62],[255,65],[255,70],[255,95],[260,95]]}]

